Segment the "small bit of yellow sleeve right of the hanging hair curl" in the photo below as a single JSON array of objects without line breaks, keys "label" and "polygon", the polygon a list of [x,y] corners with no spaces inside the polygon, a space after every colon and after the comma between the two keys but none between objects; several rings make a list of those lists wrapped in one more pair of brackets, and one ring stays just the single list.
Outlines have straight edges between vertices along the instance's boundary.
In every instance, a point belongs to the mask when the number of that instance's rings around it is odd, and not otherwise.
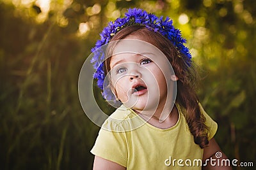
[{"label": "small bit of yellow sleeve right of the hanging hair curl", "polygon": [[218,124],[214,122],[214,120],[212,120],[212,118],[205,112],[204,108],[200,103],[199,103],[199,107],[200,107],[200,110],[202,111],[202,114],[205,117],[205,125],[209,127],[208,139],[210,140],[216,134],[218,129]]}]

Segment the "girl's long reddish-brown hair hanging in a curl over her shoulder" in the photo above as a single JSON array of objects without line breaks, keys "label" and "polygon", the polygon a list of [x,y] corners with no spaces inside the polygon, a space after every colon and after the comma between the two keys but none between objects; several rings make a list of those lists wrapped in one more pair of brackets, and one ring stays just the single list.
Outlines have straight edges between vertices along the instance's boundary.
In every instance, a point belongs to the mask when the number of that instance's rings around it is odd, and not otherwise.
[{"label": "girl's long reddish-brown hair hanging in a curl over her shoulder", "polygon": [[[165,38],[159,32],[150,31],[143,25],[125,27],[117,32],[111,41],[124,39],[129,35],[145,38],[148,43],[156,46],[166,55],[173,67],[175,75],[179,78],[177,81],[177,97],[175,102],[186,109],[186,121],[189,131],[194,136],[195,143],[200,145],[201,148],[207,146],[209,143],[207,138],[209,128],[205,125],[205,117],[202,115],[200,106],[198,105],[198,97],[196,96],[194,86],[196,71],[193,65],[186,65],[188,62],[184,60],[182,54],[179,53],[169,39]],[[105,73],[108,73],[110,70],[110,60],[110,58],[106,59],[104,66]]]}]

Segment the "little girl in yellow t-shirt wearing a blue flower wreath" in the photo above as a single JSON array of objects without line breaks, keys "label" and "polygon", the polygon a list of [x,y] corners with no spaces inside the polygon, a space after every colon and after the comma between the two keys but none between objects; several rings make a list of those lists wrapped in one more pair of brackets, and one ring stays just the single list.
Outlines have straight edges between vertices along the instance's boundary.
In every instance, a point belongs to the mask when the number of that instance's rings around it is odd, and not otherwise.
[{"label": "little girl in yellow t-shirt wearing a blue flower wreath", "polygon": [[198,103],[191,55],[172,20],[134,8],[100,36],[94,77],[103,97],[122,106],[100,129],[93,169],[231,169],[213,138],[217,124]]}]

